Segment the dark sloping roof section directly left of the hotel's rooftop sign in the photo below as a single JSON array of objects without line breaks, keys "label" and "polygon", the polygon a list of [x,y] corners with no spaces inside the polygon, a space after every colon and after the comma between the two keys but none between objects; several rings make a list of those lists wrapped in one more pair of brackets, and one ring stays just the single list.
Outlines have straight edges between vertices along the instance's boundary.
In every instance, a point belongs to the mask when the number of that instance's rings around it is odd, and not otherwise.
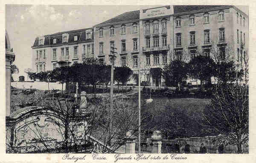
[{"label": "dark sloping roof section directly left of the hotel's rooftop sign", "polygon": [[128,21],[128,20],[136,20],[136,19],[140,19],[140,10],[125,12],[123,14],[120,14],[116,17],[111,18],[110,20],[99,23],[98,25]]}]

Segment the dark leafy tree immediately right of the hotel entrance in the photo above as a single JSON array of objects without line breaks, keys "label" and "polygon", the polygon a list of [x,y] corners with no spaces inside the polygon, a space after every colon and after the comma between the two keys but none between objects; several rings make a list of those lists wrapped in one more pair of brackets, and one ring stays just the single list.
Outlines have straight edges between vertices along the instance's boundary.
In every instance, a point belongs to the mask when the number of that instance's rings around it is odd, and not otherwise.
[{"label": "dark leafy tree immediately right of the hotel entrance", "polygon": [[166,86],[170,86],[172,82],[178,83],[178,86],[180,86],[182,80],[187,79],[187,72],[187,64],[184,61],[172,60],[168,65],[164,66],[162,71]]}]

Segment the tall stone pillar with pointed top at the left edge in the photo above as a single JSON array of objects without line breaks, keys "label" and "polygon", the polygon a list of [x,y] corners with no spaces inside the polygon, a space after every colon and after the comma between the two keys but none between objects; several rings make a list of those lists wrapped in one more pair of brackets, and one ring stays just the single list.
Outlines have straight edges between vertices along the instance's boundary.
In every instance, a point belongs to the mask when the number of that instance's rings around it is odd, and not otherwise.
[{"label": "tall stone pillar with pointed top at the left edge", "polygon": [[10,115],[11,106],[11,64],[15,60],[15,54],[13,53],[9,36],[6,31],[6,116]]}]

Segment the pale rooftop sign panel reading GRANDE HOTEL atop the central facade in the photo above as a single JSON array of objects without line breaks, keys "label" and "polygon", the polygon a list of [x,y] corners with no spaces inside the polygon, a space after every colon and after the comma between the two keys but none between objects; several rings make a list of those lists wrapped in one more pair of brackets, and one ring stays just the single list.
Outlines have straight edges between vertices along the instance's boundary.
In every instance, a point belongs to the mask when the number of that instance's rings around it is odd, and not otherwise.
[{"label": "pale rooftop sign panel reading GRANDE HOTEL atop the central facade", "polygon": [[140,10],[140,19],[162,17],[173,14],[173,6],[164,6],[154,9]]}]

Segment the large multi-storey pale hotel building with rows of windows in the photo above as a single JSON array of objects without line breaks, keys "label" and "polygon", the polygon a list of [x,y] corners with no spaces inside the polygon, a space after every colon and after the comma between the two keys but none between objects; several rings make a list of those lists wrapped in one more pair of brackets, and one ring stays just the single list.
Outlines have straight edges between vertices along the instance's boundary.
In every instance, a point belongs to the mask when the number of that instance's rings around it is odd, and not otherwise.
[{"label": "large multi-storey pale hotel building with rows of windows", "polygon": [[[233,60],[241,60],[249,48],[248,25],[248,16],[235,6],[163,6],[129,11],[93,28],[37,37],[32,46],[33,70],[52,70],[94,57],[102,64],[128,66],[138,74],[140,62],[141,80],[159,86],[163,79],[151,77],[150,69],[163,68],[173,56],[182,57],[184,51],[193,57],[199,51],[209,55],[213,47],[223,54],[231,49]],[[114,60],[109,57],[111,47],[117,52]]]}]

